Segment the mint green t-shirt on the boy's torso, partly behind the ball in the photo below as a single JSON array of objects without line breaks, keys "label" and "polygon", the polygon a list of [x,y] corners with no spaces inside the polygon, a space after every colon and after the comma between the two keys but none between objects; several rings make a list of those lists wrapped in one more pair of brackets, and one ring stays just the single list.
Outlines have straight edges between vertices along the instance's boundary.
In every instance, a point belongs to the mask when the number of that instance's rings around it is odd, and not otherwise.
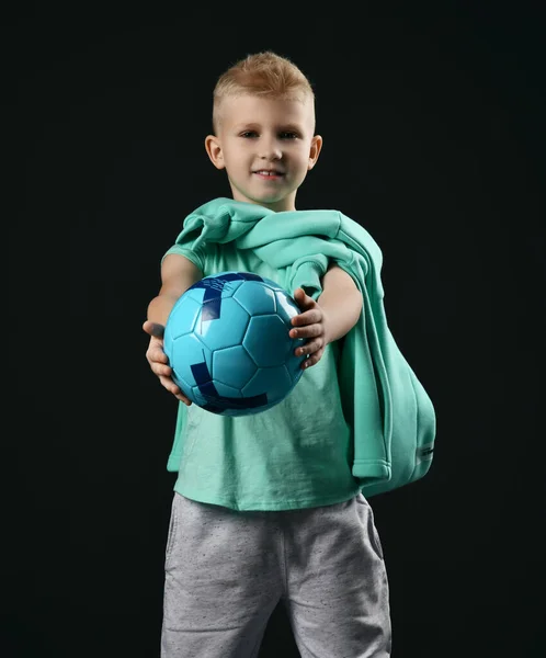
[{"label": "mint green t-shirt on the boy's torso, partly behind the ball", "polygon": [[[252,250],[238,250],[234,242],[198,249],[174,245],[168,253],[186,257],[205,276],[253,272],[284,284]],[[351,473],[353,444],[341,407],[338,360],[338,344],[330,343],[282,402],[253,416],[219,416],[180,402],[174,490],[234,510],[310,508],[355,496],[361,487]]]}]

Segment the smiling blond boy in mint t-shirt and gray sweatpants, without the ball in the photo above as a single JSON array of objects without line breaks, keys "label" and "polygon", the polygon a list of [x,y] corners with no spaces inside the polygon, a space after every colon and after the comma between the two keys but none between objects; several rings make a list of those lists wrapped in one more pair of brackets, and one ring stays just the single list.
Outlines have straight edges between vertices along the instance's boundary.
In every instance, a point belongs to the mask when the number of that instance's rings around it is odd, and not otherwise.
[{"label": "smiling blond boy in mint t-shirt and gray sweatpants, without the ball", "polygon": [[[303,658],[390,655],[386,568],[372,509],[351,470],[352,434],[338,385],[339,340],[361,317],[362,294],[321,254],[320,290],[303,275],[292,288],[298,259],[275,266],[276,253],[261,256],[268,240],[244,243],[251,232],[239,228],[269,222],[272,236],[285,231],[294,243],[302,237],[296,193],[322,146],[314,102],[302,71],[271,52],[248,56],[219,78],[205,148],[226,170],[232,200],[215,200],[186,218],[148,306],[147,359],[182,402],[162,658],[258,656],[280,599]],[[278,281],[302,310],[291,334],[306,339],[305,372],[285,400],[255,416],[223,417],[192,406],[162,350],[175,300],[203,276],[226,270]]]}]

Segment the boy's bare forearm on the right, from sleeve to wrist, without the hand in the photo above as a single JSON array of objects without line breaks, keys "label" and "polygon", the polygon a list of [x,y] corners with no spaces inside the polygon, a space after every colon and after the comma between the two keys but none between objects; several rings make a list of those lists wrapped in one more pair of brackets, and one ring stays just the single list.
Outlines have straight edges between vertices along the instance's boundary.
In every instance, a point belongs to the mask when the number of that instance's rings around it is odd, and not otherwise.
[{"label": "boy's bare forearm on the right, from sleeve to wrist, without the hand", "polygon": [[362,313],[362,294],[351,276],[338,265],[322,279],[322,294],[317,299],[327,318],[327,340],[343,338],[356,325]]}]

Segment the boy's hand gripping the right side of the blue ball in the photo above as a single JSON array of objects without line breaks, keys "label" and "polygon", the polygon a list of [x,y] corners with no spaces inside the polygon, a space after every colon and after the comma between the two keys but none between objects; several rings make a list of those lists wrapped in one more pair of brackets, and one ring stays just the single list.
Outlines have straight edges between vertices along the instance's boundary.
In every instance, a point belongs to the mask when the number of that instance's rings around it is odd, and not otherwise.
[{"label": "boy's hand gripping the right side of the blue ball", "polygon": [[296,356],[309,355],[302,363],[302,367],[307,368],[320,361],[329,342],[326,332],[326,315],[325,309],[312,297],[306,295],[303,288],[296,288],[294,298],[302,313],[292,318],[292,325],[296,329],[291,329],[289,336],[291,338],[308,339],[303,347],[297,348],[294,352]]}]

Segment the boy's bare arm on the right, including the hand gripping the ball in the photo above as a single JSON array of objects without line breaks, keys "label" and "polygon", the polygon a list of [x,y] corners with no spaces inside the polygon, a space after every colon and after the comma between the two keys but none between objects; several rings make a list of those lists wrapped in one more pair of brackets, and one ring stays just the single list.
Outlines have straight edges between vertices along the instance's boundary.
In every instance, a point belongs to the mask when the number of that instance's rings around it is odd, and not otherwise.
[{"label": "boy's bare arm on the right, including the hand gripping the ball", "polygon": [[297,288],[295,297],[302,313],[292,319],[292,338],[307,338],[297,355],[309,354],[303,367],[318,363],[328,343],[339,340],[354,327],[362,311],[362,294],[351,276],[331,265],[322,277],[322,294],[317,302]]}]

